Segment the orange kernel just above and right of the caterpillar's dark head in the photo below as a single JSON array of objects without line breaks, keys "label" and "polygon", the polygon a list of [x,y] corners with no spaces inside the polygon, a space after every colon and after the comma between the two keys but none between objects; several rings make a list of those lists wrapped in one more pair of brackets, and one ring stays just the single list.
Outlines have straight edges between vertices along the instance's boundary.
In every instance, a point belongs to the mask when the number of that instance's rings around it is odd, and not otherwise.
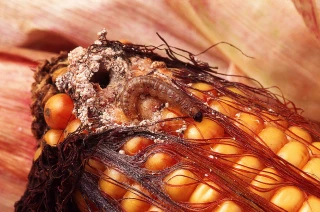
[{"label": "orange kernel just above and right of the caterpillar's dark head", "polygon": [[236,102],[227,96],[221,96],[209,102],[209,106],[228,117],[234,117],[239,110],[236,108]]}]

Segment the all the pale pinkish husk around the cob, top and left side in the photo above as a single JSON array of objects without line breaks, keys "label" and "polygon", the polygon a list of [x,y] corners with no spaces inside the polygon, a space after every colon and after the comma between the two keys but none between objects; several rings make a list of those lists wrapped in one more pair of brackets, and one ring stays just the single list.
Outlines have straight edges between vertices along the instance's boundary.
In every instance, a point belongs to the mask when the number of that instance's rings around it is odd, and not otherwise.
[{"label": "all the pale pinkish husk around the cob, top and left side", "polygon": [[[52,51],[70,50],[75,44],[88,45],[95,39],[96,32],[104,27],[110,32],[110,37],[139,43],[161,43],[155,34],[159,32],[171,45],[184,47],[193,52],[200,52],[210,44],[221,40],[228,41],[255,59],[252,60],[233,48],[220,45],[219,49],[224,55],[218,54],[215,48],[205,55],[204,60],[212,61],[210,60],[212,55],[219,55],[222,59],[215,60],[211,65],[218,65],[221,71],[228,67],[223,60],[230,58],[233,63],[229,70],[232,70],[232,66],[239,66],[241,70],[248,71],[246,73],[249,76],[257,78],[265,86],[278,85],[285,96],[306,110],[306,116],[310,117],[312,114],[314,120],[320,120],[320,117],[315,117],[317,114],[314,113],[320,101],[319,93],[317,94],[319,83],[316,81],[319,79],[319,71],[316,69],[319,67],[318,41],[313,34],[309,33],[299,13],[290,2],[280,5],[276,4],[276,1],[271,1],[270,4],[262,3],[265,1],[252,4],[250,1],[251,7],[246,2],[237,5],[233,1],[217,1],[218,6],[211,2],[203,5],[192,3],[187,5],[190,6],[187,10],[180,7],[180,12],[179,8],[177,9],[179,6],[172,3],[168,6],[164,2],[159,2],[148,4],[137,1],[134,2],[136,5],[130,5],[126,1],[121,3],[109,1],[100,4],[75,1],[63,4],[58,1],[3,2],[0,3],[0,7],[6,10],[3,15],[0,15],[2,33],[0,43],[6,46],[24,46],[34,49],[49,48],[48,50]],[[205,7],[210,4],[211,7]],[[253,7],[255,10],[252,9]],[[166,16],[163,16],[163,10],[168,11]],[[254,12],[261,10],[264,10],[264,18],[253,20],[252,17],[257,15]],[[186,14],[182,16],[181,11],[182,14]],[[194,16],[190,16],[193,14],[190,11],[198,11],[197,15],[200,14],[196,23],[190,21],[195,19]],[[92,15],[97,13],[96,16]],[[207,17],[208,14],[214,17]],[[261,13],[258,14],[260,17]],[[283,14],[286,14],[287,21],[282,24],[275,23],[274,20],[283,18]],[[187,15],[190,17],[187,18]],[[160,16],[162,18],[158,18]],[[102,20],[99,21],[99,19]],[[172,20],[176,24],[172,24]],[[90,23],[90,30],[83,27],[85,23]],[[201,27],[206,30],[203,31]],[[273,34],[275,32],[277,33]],[[42,36],[34,36],[39,34]],[[38,43],[44,40],[43,35],[48,34],[58,35],[61,39],[56,39],[49,47],[46,46],[48,42]],[[62,45],[61,40],[64,41]],[[58,48],[52,48],[56,44],[59,44]],[[7,54],[8,51],[10,54]],[[24,49],[16,51],[7,47],[1,52],[6,54],[1,53],[0,56],[2,75],[0,121],[6,124],[1,124],[3,127],[0,129],[0,142],[3,146],[0,150],[0,199],[6,201],[1,201],[0,208],[11,211],[13,203],[25,188],[26,176],[35,150],[35,139],[32,138],[30,131],[29,112],[31,95],[29,91],[33,81],[30,67],[34,67],[35,63],[30,61],[50,56],[43,52]],[[21,57],[16,57],[16,59],[20,58],[18,61],[10,60],[14,54],[30,60],[22,59],[21,61]],[[284,81],[288,82],[284,85]],[[308,101],[302,102],[303,99]]]}]

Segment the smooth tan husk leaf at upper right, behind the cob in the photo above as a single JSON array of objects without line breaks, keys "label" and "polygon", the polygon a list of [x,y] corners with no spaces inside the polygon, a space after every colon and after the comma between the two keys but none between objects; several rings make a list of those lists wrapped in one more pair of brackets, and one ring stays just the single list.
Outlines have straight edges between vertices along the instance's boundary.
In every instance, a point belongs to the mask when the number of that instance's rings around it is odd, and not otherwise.
[{"label": "smooth tan husk leaf at upper right, behind the cob", "polygon": [[[169,1],[168,1],[169,2]],[[302,1],[300,1],[302,2]],[[226,45],[218,48],[247,76],[284,96],[320,120],[320,42],[290,1],[182,1],[172,7],[211,42],[236,44],[252,58]],[[192,16],[190,15],[192,14]],[[275,92],[280,93],[278,89]]]}]

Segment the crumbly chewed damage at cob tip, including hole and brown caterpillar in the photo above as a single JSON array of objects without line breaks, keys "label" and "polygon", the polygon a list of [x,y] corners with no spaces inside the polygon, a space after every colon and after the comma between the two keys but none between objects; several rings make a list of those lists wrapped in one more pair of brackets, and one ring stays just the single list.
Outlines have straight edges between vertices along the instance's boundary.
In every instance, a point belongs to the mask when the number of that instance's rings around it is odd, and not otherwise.
[{"label": "crumbly chewed damage at cob tip, including hole and brown caterpillar", "polygon": [[[164,106],[181,108],[184,114],[201,121],[202,113],[190,96],[171,82],[162,61],[139,55],[127,55],[120,42],[103,46],[106,32],[89,49],[78,47],[68,55],[69,71],[57,77],[56,86],[75,101],[74,113],[84,125],[99,124],[100,130],[113,125],[114,113],[122,109],[129,119],[157,121]],[[142,107],[139,108],[139,106]],[[149,113],[149,111],[152,113]]]}]

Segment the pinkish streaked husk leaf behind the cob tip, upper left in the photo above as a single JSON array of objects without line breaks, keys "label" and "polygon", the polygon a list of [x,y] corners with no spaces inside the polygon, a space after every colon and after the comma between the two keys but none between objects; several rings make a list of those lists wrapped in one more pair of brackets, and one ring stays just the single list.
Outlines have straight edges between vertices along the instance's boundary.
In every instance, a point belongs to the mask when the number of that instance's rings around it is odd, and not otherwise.
[{"label": "pinkish streaked husk leaf behind the cob tip, upper left", "polygon": [[[18,0],[0,3],[0,8],[6,8],[4,15],[0,15],[1,45],[45,48],[48,51],[48,42],[43,40],[47,39],[47,36],[55,36],[50,39],[52,46],[69,42],[69,46],[73,43],[86,47],[96,39],[96,33],[103,28],[107,29],[110,39],[125,39],[150,45],[162,44],[156,34],[158,32],[172,46],[183,47],[194,53],[212,44],[203,39],[195,27],[176,14],[166,1],[71,0],[62,3],[54,0]],[[56,51],[55,47],[53,50],[57,53],[68,50],[62,48],[63,46]],[[205,60],[210,59],[211,53],[218,52],[210,51]],[[223,63],[216,65],[221,67]]]}]

